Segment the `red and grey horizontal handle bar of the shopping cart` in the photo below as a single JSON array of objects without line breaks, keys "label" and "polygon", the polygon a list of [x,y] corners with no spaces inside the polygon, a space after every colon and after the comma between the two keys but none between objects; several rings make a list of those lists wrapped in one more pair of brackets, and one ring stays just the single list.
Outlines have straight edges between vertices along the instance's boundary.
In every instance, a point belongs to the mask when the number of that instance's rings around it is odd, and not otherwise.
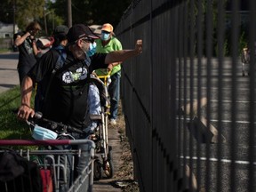
[{"label": "red and grey horizontal handle bar of the shopping cart", "polygon": [[47,146],[47,145],[78,145],[92,140],[0,140],[0,146]]}]

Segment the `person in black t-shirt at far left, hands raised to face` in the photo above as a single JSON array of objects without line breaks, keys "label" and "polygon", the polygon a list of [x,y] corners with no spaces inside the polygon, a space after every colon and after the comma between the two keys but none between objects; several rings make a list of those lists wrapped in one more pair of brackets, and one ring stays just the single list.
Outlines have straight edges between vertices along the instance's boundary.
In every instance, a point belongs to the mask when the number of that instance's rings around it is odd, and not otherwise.
[{"label": "person in black t-shirt at far left, hands raised to face", "polygon": [[14,45],[19,48],[19,62],[17,68],[20,85],[30,68],[36,64],[36,55],[39,53],[39,50],[36,47],[35,36],[40,30],[41,26],[39,23],[32,21],[28,24],[26,31],[18,32],[13,36]]}]

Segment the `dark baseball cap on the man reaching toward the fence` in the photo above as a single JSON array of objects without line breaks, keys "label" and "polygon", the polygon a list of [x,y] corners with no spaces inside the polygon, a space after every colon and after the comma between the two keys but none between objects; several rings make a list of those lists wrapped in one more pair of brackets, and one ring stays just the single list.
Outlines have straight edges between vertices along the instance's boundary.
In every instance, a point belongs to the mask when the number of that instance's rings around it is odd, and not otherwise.
[{"label": "dark baseball cap on the man reaching toward the fence", "polygon": [[69,28],[68,30],[68,43],[76,42],[77,39],[82,37],[90,37],[93,39],[98,39],[100,36],[97,36],[92,32],[92,29],[84,24],[76,24]]}]

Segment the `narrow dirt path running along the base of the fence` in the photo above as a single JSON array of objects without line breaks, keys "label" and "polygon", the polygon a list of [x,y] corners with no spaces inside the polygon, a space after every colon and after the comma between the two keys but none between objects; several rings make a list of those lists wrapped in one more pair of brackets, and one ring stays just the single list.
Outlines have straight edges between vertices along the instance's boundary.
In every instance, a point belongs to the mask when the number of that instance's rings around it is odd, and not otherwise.
[{"label": "narrow dirt path running along the base of the fence", "polygon": [[[112,147],[114,176],[112,179],[94,181],[93,192],[139,192],[133,179],[132,155],[127,138],[124,136],[124,116],[118,116],[115,126],[108,126],[108,143]],[[121,136],[123,140],[121,140]]]}]

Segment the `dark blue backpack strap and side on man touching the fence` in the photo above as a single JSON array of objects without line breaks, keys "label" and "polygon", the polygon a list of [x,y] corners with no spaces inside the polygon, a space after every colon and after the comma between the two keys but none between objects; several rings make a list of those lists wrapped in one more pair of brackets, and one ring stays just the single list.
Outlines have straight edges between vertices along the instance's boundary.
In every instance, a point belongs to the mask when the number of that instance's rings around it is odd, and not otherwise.
[{"label": "dark blue backpack strap and side on man touching the fence", "polygon": [[52,49],[59,52],[59,58],[56,62],[56,65],[54,66],[52,70],[52,75],[50,77],[50,80],[47,84],[47,88],[45,91],[42,89],[41,84],[36,84],[36,96],[35,96],[35,111],[43,111],[44,106],[44,100],[46,100],[46,96],[50,87],[50,84],[52,83],[52,77],[55,75],[55,73],[63,67],[64,62],[67,58],[67,52],[65,51],[65,48],[61,45],[57,47],[53,47]]}]

